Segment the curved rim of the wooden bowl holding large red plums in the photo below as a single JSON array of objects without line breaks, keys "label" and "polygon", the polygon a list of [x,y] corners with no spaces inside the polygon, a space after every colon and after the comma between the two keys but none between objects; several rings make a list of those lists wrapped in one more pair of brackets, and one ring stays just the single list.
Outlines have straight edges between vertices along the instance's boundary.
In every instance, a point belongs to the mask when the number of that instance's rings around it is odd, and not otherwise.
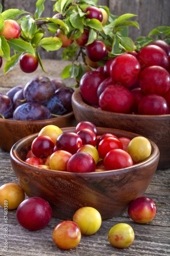
[{"label": "curved rim of the wooden bowl holding large red plums", "polygon": [[80,88],[78,88],[77,90],[75,90],[75,92],[72,94],[72,101],[76,101],[77,104],[80,104],[82,105],[84,108],[87,108],[89,110],[94,110],[96,111],[96,113],[99,113],[99,114],[104,114],[104,115],[107,115],[107,114],[114,114],[114,115],[118,115],[118,116],[124,116],[124,117],[131,117],[131,118],[147,118],[147,119],[151,119],[152,118],[161,118],[161,119],[164,119],[164,118],[167,118],[167,117],[170,117],[170,114],[165,114],[165,115],[139,115],[139,114],[125,114],[125,113],[116,113],[116,112],[111,112],[111,111],[105,111],[105,110],[100,110],[98,108],[94,108],[93,106],[89,105],[88,102],[86,103],[81,95],[81,91],[80,91]]}]

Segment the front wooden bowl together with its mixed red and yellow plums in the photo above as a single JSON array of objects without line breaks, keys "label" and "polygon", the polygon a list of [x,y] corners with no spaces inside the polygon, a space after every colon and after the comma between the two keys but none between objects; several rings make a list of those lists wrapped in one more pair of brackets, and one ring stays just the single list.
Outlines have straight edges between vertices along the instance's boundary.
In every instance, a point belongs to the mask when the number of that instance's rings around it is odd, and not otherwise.
[{"label": "front wooden bowl together with its mixed red and yellow plums", "polygon": [[11,148],[14,173],[28,197],[50,203],[53,216],[70,219],[83,206],[102,219],[125,212],[144,194],[159,162],[159,148],[135,133],[81,121],[44,126]]}]

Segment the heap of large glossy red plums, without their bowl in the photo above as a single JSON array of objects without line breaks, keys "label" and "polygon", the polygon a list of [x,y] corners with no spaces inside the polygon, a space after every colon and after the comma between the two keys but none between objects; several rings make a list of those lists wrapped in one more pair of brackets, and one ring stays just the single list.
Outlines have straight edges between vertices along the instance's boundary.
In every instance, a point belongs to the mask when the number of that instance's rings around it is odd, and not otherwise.
[{"label": "heap of large glossy red plums, without their bowl", "polygon": [[104,67],[82,76],[80,92],[88,104],[104,111],[169,114],[170,46],[155,40],[139,52],[106,60]]}]

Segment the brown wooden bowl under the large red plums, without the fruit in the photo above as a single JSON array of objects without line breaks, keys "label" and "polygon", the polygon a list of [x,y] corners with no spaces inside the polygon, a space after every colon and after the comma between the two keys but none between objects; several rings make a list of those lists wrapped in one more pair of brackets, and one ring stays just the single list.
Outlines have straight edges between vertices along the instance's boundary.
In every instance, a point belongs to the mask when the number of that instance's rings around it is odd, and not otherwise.
[{"label": "brown wooden bowl under the large red plums, without the fruit", "polygon": [[125,130],[151,139],[160,151],[158,168],[170,167],[170,115],[134,115],[99,110],[83,101],[80,89],[72,95],[72,109],[77,122],[90,121],[96,126]]}]

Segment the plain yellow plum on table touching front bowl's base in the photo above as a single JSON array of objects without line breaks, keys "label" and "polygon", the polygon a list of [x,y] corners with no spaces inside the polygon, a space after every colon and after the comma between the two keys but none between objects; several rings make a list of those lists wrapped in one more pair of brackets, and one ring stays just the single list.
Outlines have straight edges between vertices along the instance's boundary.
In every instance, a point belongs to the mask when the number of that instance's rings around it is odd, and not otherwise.
[{"label": "plain yellow plum on table touching front bowl's base", "polygon": [[82,234],[90,235],[99,230],[102,224],[102,217],[98,210],[86,206],[79,208],[75,212],[73,221],[80,227]]}]

